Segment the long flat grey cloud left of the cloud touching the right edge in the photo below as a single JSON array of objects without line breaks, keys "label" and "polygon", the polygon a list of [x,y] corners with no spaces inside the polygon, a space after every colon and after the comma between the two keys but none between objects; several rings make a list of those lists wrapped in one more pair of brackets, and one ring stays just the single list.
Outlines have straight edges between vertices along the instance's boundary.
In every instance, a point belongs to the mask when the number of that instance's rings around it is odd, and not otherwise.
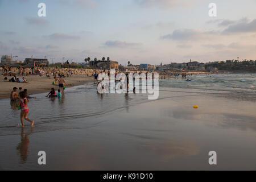
[{"label": "long flat grey cloud left of the cloud touching the right edge", "polygon": [[209,38],[209,35],[217,35],[216,31],[202,31],[193,29],[175,30],[172,34],[161,36],[161,39],[172,40],[196,40]]}]

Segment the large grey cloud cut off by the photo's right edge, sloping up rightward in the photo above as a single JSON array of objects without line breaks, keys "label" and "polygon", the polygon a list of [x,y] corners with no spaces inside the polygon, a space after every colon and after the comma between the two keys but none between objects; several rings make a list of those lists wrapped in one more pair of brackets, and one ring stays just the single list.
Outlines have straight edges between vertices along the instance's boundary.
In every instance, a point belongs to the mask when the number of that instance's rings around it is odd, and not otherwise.
[{"label": "large grey cloud cut off by the photo's right edge, sloping up rightward", "polygon": [[231,24],[222,33],[230,34],[230,33],[241,33],[241,32],[256,32],[256,19],[249,22],[247,18],[243,18],[238,22]]}]

